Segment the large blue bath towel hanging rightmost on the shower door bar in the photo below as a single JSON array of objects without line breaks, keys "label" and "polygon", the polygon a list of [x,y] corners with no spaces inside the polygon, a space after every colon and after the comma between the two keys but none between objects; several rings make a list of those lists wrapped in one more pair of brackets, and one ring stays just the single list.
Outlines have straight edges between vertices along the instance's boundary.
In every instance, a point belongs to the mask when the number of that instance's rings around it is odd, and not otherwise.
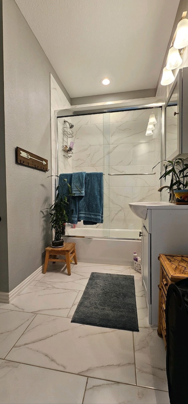
[{"label": "large blue bath towel hanging rightmost on the shower door bar", "polygon": [[78,220],[90,225],[103,223],[103,173],[85,174],[85,196],[79,198]]}]

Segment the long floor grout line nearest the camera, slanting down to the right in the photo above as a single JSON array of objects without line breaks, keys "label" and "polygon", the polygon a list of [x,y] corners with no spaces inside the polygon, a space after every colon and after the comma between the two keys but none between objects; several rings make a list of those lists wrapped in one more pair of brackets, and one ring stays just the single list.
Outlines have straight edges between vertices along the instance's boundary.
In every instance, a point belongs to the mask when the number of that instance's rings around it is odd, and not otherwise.
[{"label": "long floor grout line nearest the camera, slanting down to the right", "polygon": [[[8,354],[7,354],[8,355]],[[26,365],[26,366],[35,366],[35,368],[42,368],[42,369],[49,369],[49,370],[55,370],[55,372],[62,372],[62,373],[67,373],[70,375],[76,375],[76,376],[81,376],[81,377],[87,377],[88,379],[97,379],[97,380],[104,380],[104,381],[109,381],[112,383],[118,383],[118,384],[122,384],[122,385],[128,385],[128,386],[133,386],[133,387],[143,387],[143,389],[149,389],[149,390],[157,390],[157,391],[164,391],[165,393],[168,393],[167,390],[159,390],[159,389],[155,389],[155,387],[148,387],[148,386],[140,386],[140,385],[136,385],[136,384],[131,384],[131,383],[126,383],[126,382],[122,382],[122,381],[117,381],[117,380],[109,380],[109,379],[101,379],[99,377],[96,376],[87,376],[87,375],[80,375],[79,373],[73,373],[73,372],[67,372],[66,370],[61,370],[61,369],[53,369],[53,368],[46,368],[45,366],[40,366],[40,365],[34,365],[31,363],[25,363],[25,362],[18,362],[18,360],[13,360],[13,359],[4,359],[4,358],[0,358],[1,360],[6,360],[7,362],[15,362],[15,363],[19,363],[22,365]]]}]

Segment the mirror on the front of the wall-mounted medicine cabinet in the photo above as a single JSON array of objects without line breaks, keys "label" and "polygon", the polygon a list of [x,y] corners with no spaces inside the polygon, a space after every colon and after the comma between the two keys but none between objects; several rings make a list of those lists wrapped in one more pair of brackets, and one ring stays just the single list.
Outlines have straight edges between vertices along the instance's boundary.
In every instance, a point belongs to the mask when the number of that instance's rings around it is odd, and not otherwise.
[{"label": "mirror on the front of the wall-mounted medicine cabinet", "polygon": [[166,160],[178,149],[178,86],[174,91],[165,108],[166,110]]}]

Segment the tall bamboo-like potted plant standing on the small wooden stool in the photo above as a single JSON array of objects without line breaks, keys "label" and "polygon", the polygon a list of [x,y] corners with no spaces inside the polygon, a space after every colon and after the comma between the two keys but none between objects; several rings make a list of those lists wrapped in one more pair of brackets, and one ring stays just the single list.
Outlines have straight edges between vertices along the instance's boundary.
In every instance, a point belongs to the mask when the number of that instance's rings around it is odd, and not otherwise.
[{"label": "tall bamboo-like potted plant standing on the small wooden stool", "polygon": [[70,197],[73,196],[70,184],[64,179],[63,185],[56,188],[57,195],[53,205],[50,207],[50,223],[55,231],[53,247],[63,247],[64,240],[61,240],[65,223],[71,221],[73,209],[70,207]]}]

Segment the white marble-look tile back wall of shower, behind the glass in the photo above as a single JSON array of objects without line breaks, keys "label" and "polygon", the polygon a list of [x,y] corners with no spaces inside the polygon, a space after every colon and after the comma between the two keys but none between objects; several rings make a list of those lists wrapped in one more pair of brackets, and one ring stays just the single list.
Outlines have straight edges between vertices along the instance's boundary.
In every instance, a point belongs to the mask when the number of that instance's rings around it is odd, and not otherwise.
[{"label": "white marble-look tile back wall of shower, behind the glass", "polygon": [[[105,226],[140,229],[140,219],[129,202],[159,200],[160,164],[156,175],[108,176],[108,173],[151,173],[161,158],[161,109],[155,109],[157,124],[146,137],[149,110],[135,110],[71,117],[74,124],[72,171],[103,171]],[[79,226],[83,227],[81,222]],[[95,225],[93,227],[102,227]]]}]

